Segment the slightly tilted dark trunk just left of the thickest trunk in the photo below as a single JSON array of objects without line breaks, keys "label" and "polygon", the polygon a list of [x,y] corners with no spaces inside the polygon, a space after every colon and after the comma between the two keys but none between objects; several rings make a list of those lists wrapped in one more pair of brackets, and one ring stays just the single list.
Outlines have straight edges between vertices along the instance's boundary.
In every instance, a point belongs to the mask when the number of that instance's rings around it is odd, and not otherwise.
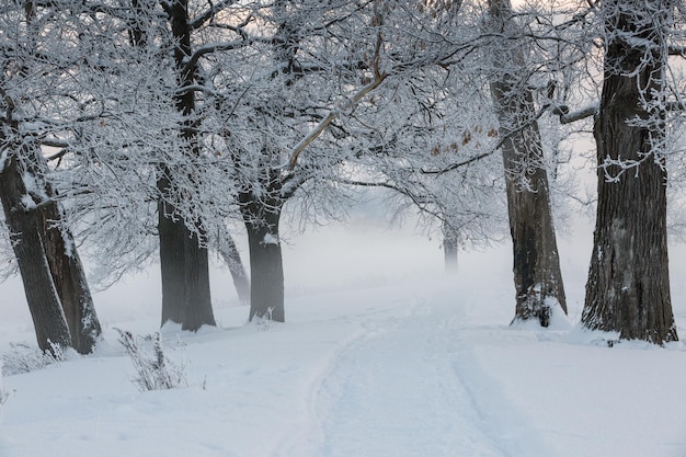
[{"label": "slightly tilted dark trunk just left of the thickest trunk", "polygon": [[[490,0],[490,12],[499,32],[508,28],[513,21],[510,0]],[[491,93],[501,123],[500,135],[505,138],[502,153],[517,300],[514,321],[537,319],[548,327],[551,306],[557,302],[567,312],[567,300],[540,132],[533,95],[522,88],[525,84],[517,77],[524,57],[510,49],[498,55],[496,65],[505,69],[491,83]]]}]

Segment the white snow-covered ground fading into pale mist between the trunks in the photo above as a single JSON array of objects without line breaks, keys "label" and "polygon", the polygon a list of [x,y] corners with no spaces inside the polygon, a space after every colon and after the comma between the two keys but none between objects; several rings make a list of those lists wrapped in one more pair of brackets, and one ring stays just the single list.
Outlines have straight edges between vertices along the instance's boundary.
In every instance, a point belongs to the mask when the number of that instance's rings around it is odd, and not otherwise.
[{"label": "white snow-covered ground fading into pale mist between the trunks", "polygon": [[[590,230],[562,240],[570,320],[511,328],[510,247],[442,273],[437,241],[331,226],[293,239],[285,324],[250,324],[215,273],[218,329],[168,327],[187,387],[139,392],[113,328],[157,330],[155,272],[96,295],[95,354],[5,376],[2,457],[683,457],[686,346],[620,343],[575,322]],[[686,338],[684,249],[672,288]],[[33,343],[16,283],[0,351]],[[182,344],[183,343],[183,344]]]}]

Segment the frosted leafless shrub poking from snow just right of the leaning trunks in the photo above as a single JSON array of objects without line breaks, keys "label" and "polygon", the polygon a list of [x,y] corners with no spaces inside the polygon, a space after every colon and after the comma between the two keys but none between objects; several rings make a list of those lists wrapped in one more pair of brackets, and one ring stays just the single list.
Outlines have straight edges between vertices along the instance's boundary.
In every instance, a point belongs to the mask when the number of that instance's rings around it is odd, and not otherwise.
[{"label": "frosted leafless shrub poking from snow just right of the leaning trunks", "polygon": [[148,390],[173,389],[179,386],[187,386],[185,366],[175,365],[164,353],[162,335],[157,332],[142,336],[151,342],[150,352],[145,351],[138,344],[138,339],[130,332],[114,329],[119,333],[119,343],[128,353],[138,377],[132,381],[141,392]]}]

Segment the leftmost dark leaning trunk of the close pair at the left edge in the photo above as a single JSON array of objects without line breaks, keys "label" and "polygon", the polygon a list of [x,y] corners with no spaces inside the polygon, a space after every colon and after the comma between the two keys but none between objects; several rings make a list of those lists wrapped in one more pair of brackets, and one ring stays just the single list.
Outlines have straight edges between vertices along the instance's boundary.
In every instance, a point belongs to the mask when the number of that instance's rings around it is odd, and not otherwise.
[{"label": "leftmost dark leaning trunk of the close pair at the left edge", "polygon": [[53,345],[71,346],[71,336],[46,258],[38,208],[33,203],[22,202],[27,195],[22,175],[16,157],[8,157],[0,172],[0,199],[38,347],[53,352]]}]

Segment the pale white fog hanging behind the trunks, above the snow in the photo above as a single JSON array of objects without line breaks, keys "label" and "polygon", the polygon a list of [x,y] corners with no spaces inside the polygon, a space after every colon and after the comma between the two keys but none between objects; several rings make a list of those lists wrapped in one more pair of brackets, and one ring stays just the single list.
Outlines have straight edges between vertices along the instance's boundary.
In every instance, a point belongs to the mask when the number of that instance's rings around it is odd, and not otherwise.
[{"label": "pale white fog hanging behind the trunks, above the snow", "polygon": [[[410,281],[445,276],[439,237],[430,237],[416,220],[409,218],[401,227],[392,226],[384,216],[364,213],[353,215],[350,224],[331,222],[310,226],[304,232],[285,227],[284,272],[286,316],[288,300],[297,297],[402,284]],[[236,235],[241,258],[248,265],[247,241]],[[569,316],[576,322],[584,299],[588,260],[593,241],[592,221],[585,216],[568,218],[558,230],[560,262],[564,279]],[[686,318],[686,273],[684,244],[671,245],[671,276],[674,313]],[[216,310],[241,306],[231,275],[217,255],[211,255],[211,294]],[[456,275],[473,277],[477,284],[489,284],[489,277],[503,282],[511,278],[512,245],[504,241],[490,248],[460,251]],[[484,281],[485,279],[485,281]],[[513,300],[502,306],[512,307]],[[161,312],[159,265],[127,275],[106,290],[95,292],[96,311],[104,325],[158,318]],[[33,343],[33,325],[19,277],[0,284],[2,323],[0,336],[26,333]],[[245,318],[248,309],[245,309]],[[221,325],[221,322],[219,322]],[[155,329],[147,329],[153,331]]]}]

